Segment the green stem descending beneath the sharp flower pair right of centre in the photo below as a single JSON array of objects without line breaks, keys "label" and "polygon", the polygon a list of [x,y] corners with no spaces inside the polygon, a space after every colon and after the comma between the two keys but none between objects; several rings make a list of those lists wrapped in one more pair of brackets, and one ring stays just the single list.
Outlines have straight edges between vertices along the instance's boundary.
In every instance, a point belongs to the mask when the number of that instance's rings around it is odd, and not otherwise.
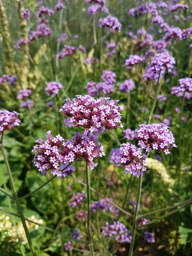
[{"label": "green stem descending beneath the sharp flower pair right of centre", "polygon": [[137,213],[138,213],[138,208],[139,208],[139,203],[140,203],[140,198],[141,198],[141,187],[142,187],[142,180],[143,180],[143,173],[139,176],[139,186],[138,186],[138,192],[137,192],[137,201],[136,201],[136,209],[133,217],[133,230],[132,230],[132,240],[130,244],[130,251],[128,256],[133,255],[133,247],[135,244],[135,234],[136,234],[136,225],[137,225]]}]

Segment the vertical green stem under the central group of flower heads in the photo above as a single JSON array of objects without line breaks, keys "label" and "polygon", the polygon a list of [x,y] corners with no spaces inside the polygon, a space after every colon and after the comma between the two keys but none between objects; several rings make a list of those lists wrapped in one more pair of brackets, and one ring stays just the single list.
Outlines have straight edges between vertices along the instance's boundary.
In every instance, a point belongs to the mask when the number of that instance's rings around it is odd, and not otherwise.
[{"label": "vertical green stem under the central group of flower heads", "polygon": [[91,193],[90,193],[90,176],[89,176],[89,169],[86,164],[86,183],[87,183],[87,232],[89,237],[89,250],[90,256],[93,256],[93,241],[91,237],[91,226],[90,226],[90,219],[91,219]]}]

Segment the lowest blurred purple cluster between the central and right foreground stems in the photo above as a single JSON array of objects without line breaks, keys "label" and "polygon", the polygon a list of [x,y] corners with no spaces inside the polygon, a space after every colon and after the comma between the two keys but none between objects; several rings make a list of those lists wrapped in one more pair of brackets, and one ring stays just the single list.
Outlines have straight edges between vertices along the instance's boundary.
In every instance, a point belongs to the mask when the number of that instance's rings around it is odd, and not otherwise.
[{"label": "lowest blurred purple cluster between the central and right foreground stems", "polygon": [[[124,234],[120,235],[120,233]],[[132,240],[131,233],[128,231],[126,226],[123,223],[120,223],[119,221],[114,221],[114,223],[111,225],[108,222],[106,222],[105,226],[102,227],[102,234],[105,237],[111,237],[116,234],[119,234],[119,236],[115,237],[115,240],[119,243],[130,243]]]}]

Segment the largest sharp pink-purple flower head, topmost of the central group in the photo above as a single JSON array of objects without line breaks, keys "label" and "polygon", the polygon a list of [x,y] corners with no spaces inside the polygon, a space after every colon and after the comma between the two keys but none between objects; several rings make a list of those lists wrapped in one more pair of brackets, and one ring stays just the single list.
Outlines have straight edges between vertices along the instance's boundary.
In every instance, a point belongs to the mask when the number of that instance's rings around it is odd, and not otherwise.
[{"label": "largest sharp pink-purple flower head, topmost of the central group", "polygon": [[101,129],[116,129],[121,125],[122,106],[118,101],[110,98],[98,98],[91,96],[76,96],[76,98],[66,100],[60,112],[69,117],[72,126],[82,126],[90,132]]}]

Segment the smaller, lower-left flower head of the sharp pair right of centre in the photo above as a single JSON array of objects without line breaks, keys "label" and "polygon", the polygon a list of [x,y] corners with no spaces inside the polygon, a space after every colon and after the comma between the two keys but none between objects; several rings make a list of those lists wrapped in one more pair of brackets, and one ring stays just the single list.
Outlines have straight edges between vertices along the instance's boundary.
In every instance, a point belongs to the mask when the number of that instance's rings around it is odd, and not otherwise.
[{"label": "smaller, lower-left flower head of the sharp pair right of centre", "polygon": [[123,143],[116,154],[115,163],[125,168],[124,174],[130,172],[131,175],[139,177],[144,171],[146,156],[142,154],[141,148],[131,143]]}]

